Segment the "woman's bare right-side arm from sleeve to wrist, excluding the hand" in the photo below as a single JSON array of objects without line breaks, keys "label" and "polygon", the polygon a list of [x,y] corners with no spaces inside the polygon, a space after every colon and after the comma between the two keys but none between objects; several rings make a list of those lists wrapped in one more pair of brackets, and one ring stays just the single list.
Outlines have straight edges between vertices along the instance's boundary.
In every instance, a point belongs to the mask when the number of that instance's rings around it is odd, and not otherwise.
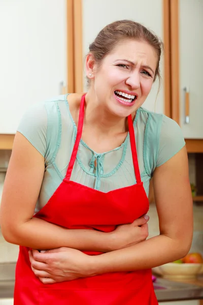
[{"label": "woman's bare right-side arm from sleeve to wrist, excluding the hand", "polygon": [[184,257],[191,246],[193,204],[186,147],[155,169],[154,194],[160,235],[92,257],[93,273],[152,268]]}]

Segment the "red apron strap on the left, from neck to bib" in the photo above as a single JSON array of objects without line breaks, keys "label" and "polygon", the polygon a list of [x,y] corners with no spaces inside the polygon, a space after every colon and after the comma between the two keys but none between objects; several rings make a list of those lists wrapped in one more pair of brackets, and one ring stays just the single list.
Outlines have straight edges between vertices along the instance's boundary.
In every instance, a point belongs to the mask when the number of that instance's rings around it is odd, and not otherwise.
[{"label": "red apron strap on the left, from neck to bib", "polygon": [[74,148],[73,148],[73,151],[72,151],[71,160],[69,162],[69,166],[67,168],[67,172],[66,172],[66,175],[65,175],[65,180],[67,180],[67,181],[69,181],[70,178],[71,178],[71,173],[72,173],[73,166],[74,166],[74,163],[76,161],[76,156],[77,156],[77,153],[78,153],[78,146],[79,146],[80,139],[81,139],[81,136],[82,136],[82,128],[83,128],[83,121],[84,121],[84,110],[85,110],[85,96],[86,96],[86,94],[82,96],[81,103],[80,103],[80,112],[79,112],[78,131],[77,131],[76,141],[75,141],[75,145],[74,145]]}]

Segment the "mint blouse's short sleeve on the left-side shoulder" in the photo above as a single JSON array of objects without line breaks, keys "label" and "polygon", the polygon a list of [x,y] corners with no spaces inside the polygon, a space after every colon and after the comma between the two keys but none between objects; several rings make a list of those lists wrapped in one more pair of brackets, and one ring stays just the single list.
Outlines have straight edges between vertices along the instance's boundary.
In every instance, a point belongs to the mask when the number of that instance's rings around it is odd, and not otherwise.
[{"label": "mint blouse's short sleeve on the left-side shoulder", "polygon": [[30,107],[22,116],[17,131],[20,132],[45,158],[47,150],[47,111],[45,104]]}]

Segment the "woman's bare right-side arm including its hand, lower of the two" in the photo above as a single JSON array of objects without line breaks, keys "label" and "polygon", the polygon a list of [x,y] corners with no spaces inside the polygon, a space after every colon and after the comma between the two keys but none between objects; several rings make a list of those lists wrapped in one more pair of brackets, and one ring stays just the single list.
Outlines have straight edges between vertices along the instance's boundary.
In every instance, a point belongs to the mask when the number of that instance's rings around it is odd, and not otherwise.
[{"label": "woman's bare right-side arm including its hand, lower of the two", "polygon": [[97,256],[88,256],[68,248],[46,253],[33,251],[30,262],[35,275],[44,284],[51,284],[106,272],[148,269],[184,257],[190,249],[193,231],[185,147],[155,169],[153,183],[159,236]]}]

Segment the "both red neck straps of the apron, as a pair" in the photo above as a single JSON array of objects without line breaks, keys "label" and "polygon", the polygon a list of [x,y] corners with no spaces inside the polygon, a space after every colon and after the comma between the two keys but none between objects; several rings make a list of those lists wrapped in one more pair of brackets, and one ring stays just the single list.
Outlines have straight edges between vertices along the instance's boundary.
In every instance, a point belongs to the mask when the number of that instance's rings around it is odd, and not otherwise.
[{"label": "both red neck straps of the apron, as a pair", "polygon": [[[78,146],[79,146],[80,139],[81,139],[81,136],[82,136],[83,122],[84,122],[84,110],[85,110],[85,96],[86,96],[86,94],[83,95],[82,99],[81,99],[76,141],[75,141],[75,145],[74,145],[73,152],[72,152],[72,155],[71,155],[71,160],[69,162],[69,166],[67,168],[67,172],[66,172],[66,175],[65,175],[65,180],[68,180],[68,181],[71,178],[71,173],[72,173],[74,163],[75,163],[75,160],[76,160],[76,156],[77,156],[77,153],[78,153]],[[137,155],[137,149],[136,149],[136,139],[134,137],[134,128],[133,128],[133,123],[132,123],[132,116],[129,115],[127,117],[127,119],[128,119],[130,146],[131,146],[131,152],[132,152],[132,161],[133,161],[133,166],[134,166],[134,173],[136,175],[137,183],[140,183],[141,182],[141,176],[140,176],[140,170],[139,170],[139,164],[138,164],[138,155]]]}]

